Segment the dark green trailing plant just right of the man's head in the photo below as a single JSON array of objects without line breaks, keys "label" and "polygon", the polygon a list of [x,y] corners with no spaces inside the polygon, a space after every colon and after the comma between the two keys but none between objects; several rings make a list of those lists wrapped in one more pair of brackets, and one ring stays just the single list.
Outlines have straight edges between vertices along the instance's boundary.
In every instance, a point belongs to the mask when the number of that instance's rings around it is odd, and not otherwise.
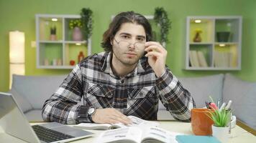
[{"label": "dark green trailing plant just right of the man's head", "polygon": [[168,41],[168,34],[169,29],[171,28],[171,22],[170,19],[168,19],[168,14],[165,9],[163,9],[163,7],[155,8],[154,20],[155,23],[160,26],[160,42],[166,43]]}]

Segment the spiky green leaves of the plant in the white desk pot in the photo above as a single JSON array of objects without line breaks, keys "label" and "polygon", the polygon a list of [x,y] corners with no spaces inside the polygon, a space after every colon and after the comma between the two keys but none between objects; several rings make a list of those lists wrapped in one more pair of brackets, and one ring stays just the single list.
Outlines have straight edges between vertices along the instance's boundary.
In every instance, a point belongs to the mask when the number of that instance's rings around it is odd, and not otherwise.
[{"label": "spiky green leaves of the plant in the white desk pot", "polygon": [[[214,103],[214,100],[210,97],[211,102]],[[211,107],[211,106],[210,106]],[[211,107],[211,109],[214,109]],[[210,114],[210,115],[209,115]],[[209,112],[207,114],[208,117],[210,117],[213,122],[214,126],[216,127],[227,127],[230,122],[231,117],[231,110],[224,109],[214,109],[214,112]]]}]

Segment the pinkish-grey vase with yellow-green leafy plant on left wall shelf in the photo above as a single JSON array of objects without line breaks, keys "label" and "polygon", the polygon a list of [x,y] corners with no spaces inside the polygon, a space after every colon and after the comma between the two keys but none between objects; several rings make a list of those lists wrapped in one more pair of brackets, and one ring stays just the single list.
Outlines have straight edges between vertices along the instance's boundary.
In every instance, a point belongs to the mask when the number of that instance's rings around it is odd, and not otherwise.
[{"label": "pinkish-grey vase with yellow-green leafy plant on left wall shelf", "polygon": [[70,20],[68,26],[70,29],[73,29],[73,34],[72,34],[73,41],[82,41],[81,20],[80,19]]}]

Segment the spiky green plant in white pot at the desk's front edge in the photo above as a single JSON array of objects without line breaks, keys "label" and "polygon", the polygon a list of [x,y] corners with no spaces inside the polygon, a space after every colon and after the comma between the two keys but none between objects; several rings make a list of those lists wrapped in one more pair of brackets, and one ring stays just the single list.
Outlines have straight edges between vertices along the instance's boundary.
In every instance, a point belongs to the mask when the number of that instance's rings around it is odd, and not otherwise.
[{"label": "spiky green plant in white pot at the desk's front edge", "polygon": [[[211,105],[209,105],[211,107]],[[209,112],[209,117],[212,119],[214,124],[211,125],[212,136],[219,139],[221,142],[227,142],[229,137],[229,129],[231,126],[231,110],[226,109],[225,107],[218,109],[211,107],[214,109],[214,112]]]}]

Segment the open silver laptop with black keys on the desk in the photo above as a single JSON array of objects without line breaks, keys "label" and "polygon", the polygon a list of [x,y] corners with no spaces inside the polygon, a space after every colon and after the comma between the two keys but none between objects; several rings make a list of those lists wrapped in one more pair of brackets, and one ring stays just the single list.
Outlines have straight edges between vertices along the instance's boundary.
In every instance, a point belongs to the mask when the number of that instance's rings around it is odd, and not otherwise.
[{"label": "open silver laptop with black keys on the desk", "polygon": [[0,92],[0,128],[26,142],[70,142],[91,137],[92,132],[50,122],[30,126],[12,94]]}]

